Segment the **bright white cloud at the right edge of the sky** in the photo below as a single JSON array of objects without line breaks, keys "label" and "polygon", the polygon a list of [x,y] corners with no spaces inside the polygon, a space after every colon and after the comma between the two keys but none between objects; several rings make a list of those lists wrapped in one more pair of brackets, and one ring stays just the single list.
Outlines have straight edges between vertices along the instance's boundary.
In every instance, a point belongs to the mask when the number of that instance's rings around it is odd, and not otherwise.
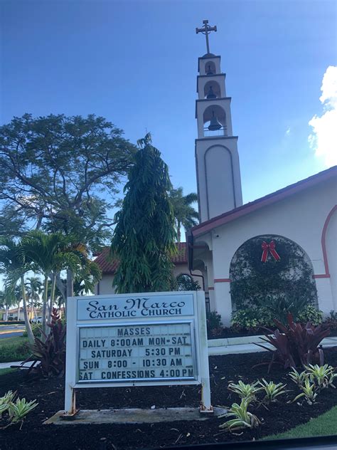
[{"label": "bright white cloud at the right edge of the sky", "polygon": [[309,144],[316,157],[323,158],[327,167],[337,164],[337,67],[329,66],[321,85],[323,114],[309,121],[313,127]]}]

